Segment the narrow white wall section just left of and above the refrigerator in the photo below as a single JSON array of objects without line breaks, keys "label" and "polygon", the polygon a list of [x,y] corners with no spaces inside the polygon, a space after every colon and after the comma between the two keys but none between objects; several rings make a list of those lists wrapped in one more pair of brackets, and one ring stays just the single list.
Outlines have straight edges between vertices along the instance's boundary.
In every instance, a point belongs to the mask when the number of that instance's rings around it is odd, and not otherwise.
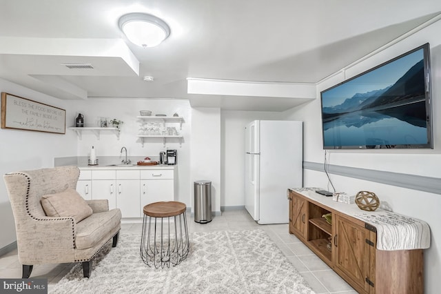
[{"label": "narrow white wall section just left of and above the refrigerator", "polygon": [[[220,113],[220,206],[245,206],[245,126],[256,119],[280,119],[280,112],[227,111]],[[278,155],[274,155],[278,160]]]}]

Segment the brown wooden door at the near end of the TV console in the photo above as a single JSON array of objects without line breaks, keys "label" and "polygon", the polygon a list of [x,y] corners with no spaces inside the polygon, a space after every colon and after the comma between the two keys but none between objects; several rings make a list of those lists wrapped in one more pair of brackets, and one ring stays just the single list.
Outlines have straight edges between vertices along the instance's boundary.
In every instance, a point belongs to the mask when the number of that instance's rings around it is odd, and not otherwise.
[{"label": "brown wooden door at the near end of the TV console", "polygon": [[335,226],[334,264],[366,293],[369,293],[369,230],[356,219],[333,214]]}]

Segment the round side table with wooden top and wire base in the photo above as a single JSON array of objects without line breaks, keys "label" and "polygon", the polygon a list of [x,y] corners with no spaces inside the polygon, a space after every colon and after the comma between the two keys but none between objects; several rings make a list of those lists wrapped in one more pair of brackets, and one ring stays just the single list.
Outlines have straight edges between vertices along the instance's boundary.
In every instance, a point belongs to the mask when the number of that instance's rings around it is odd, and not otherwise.
[{"label": "round side table with wooden top and wire base", "polygon": [[188,255],[187,206],[182,202],[154,202],[143,208],[141,259],[147,266],[170,268]]}]

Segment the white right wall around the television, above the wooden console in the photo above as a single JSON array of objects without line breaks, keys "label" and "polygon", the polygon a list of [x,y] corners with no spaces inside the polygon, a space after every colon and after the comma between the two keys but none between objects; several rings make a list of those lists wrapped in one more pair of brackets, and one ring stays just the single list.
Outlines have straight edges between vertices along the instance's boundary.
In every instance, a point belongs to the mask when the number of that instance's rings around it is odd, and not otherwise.
[{"label": "white right wall around the television, above the wooden console", "polygon": [[[353,77],[373,66],[396,57],[423,43],[431,45],[431,80],[433,101],[433,150],[331,150],[329,163],[338,166],[352,166],[373,170],[387,170],[396,173],[424,175],[441,178],[441,21],[420,30],[415,35],[396,43],[386,50],[369,57],[346,70],[346,78]],[[348,50],[350,50],[348,48]],[[344,54],[344,52],[342,52]],[[320,91],[344,80],[343,73],[318,85],[318,98],[309,104],[284,113],[287,119],[304,121],[304,161],[323,163],[322,130],[320,117]],[[418,190],[388,186],[375,182],[331,175],[334,186],[350,195],[359,190],[376,193],[382,202],[388,202],[393,211],[402,215],[422,219],[431,227],[431,248],[424,251],[424,292],[438,293],[441,273],[441,195]],[[441,179],[440,179],[441,181]],[[304,170],[305,186],[327,187],[324,173]],[[440,191],[441,193],[441,191]]]}]

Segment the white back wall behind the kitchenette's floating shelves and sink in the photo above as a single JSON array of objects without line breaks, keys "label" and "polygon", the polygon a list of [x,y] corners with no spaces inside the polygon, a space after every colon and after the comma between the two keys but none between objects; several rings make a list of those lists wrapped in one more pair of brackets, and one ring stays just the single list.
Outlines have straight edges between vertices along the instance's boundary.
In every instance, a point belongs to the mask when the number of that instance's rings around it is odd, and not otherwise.
[{"label": "white back wall behind the kitchenette's floating shelves and sink", "polygon": [[[178,190],[176,191],[176,200],[191,205],[190,202],[190,141],[192,115],[189,102],[182,99],[89,99],[87,101],[68,101],[70,109],[80,112],[84,115],[85,126],[98,126],[100,117],[109,117],[110,119],[119,119],[123,121],[121,126],[121,135],[119,140],[113,133],[101,133],[100,139],[97,139],[94,133],[83,132],[82,139],[76,141],[76,155],[90,155],[90,148],[96,149],[96,157],[100,156],[120,156],[121,148],[127,148],[128,157],[152,157],[159,156],[159,152],[167,149],[176,149],[178,154]],[[139,110],[151,110],[152,115],[165,114],[172,116],[175,112],[183,117],[185,122],[182,124],[182,130],[179,130],[179,124],[167,124],[174,126],[184,136],[182,145],[178,139],[167,139],[166,145],[163,145],[163,139],[145,139],[144,147],[139,135],[141,121],[136,119],[139,116]],[[74,120],[68,126],[73,126]],[[72,132],[72,130],[67,130]],[[119,163],[123,158],[118,159]],[[136,162],[133,162],[136,164]]]}]

